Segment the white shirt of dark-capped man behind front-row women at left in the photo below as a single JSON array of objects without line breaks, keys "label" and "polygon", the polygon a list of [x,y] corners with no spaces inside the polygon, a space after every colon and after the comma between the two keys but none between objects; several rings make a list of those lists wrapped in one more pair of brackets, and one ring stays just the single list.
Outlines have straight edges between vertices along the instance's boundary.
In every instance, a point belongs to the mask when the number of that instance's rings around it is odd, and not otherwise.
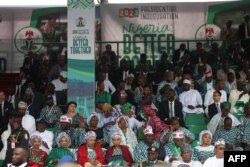
[{"label": "white shirt of dark-capped man behind front-row women at left", "polygon": [[47,143],[49,149],[44,147],[43,144],[41,145],[40,149],[49,153],[52,149],[52,143],[53,143],[53,137],[54,137],[53,133],[48,131],[48,130],[45,130],[44,132],[35,131],[31,136],[33,136],[33,135],[40,136],[42,138],[42,140]]}]

